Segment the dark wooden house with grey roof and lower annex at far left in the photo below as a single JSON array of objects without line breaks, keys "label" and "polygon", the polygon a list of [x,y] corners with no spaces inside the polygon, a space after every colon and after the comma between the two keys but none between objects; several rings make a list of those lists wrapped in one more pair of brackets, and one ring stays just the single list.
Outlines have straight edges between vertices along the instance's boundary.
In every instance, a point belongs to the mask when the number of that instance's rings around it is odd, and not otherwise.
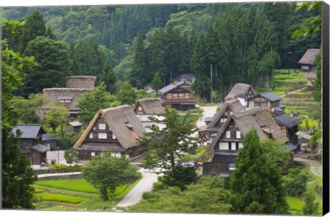
[{"label": "dark wooden house with grey roof and lower annex at far left", "polygon": [[21,154],[27,156],[32,165],[42,165],[46,162],[47,151],[56,147],[56,138],[47,135],[39,124],[17,124],[12,132],[19,136]]}]

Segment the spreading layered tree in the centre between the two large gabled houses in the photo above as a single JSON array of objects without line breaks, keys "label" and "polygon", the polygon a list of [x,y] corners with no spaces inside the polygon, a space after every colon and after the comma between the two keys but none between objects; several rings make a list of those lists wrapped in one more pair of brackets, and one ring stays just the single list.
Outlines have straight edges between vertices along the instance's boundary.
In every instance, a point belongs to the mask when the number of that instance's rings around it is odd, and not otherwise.
[{"label": "spreading layered tree in the centre between the two large gabled houses", "polygon": [[192,112],[184,116],[173,108],[165,107],[164,119],[150,117],[157,124],[166,125],[159,130],[157,125],[152,126],[152,132],[144,134],[140,139],[140,148],[144,152],[144,161],[149,168],[162,168],[166,171],[175,168],[175,161],[184,154],[195,154],[197,139],[191,137],[197,131],[196,117]]}]

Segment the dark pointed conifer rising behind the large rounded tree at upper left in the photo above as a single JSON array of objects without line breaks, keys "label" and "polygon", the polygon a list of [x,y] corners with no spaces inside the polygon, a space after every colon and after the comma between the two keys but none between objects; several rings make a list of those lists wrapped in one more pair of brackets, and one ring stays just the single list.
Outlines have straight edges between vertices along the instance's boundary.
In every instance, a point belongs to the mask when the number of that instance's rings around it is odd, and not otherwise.
[{"label": "dark pointed conifer rising behind the large rounded tree at upper left", "polygon": [[25,54],[28,43],[39,36],[45,36],[46,26],[43,22],[43,15],[37,10],[31,14],[23,25],[21,34],[20,50],[21,54]]}]

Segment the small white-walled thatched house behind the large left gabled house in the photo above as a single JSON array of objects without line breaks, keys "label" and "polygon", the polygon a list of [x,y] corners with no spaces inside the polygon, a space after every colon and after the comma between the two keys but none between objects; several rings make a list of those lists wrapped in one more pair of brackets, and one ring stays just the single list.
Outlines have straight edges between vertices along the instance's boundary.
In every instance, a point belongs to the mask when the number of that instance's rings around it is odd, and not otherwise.
[{"label": "small white-walled thatched house behind the large left gabled house", "polygon": [[164,129],[166,125],[159,124],[153,121],[150,117],[157,118],[158,120],[162,121],[164,120],[164,107],[162,107],[162,104],[160,103],[159,99],[154,98],[147,98],[147,99],[138,99],[135,101],[135,105],[133,107],[133,110],[141,121],[144,129],[146,129],[146,132],[152,132],[150,127],[152,126],[158,126],[159,130]]}]

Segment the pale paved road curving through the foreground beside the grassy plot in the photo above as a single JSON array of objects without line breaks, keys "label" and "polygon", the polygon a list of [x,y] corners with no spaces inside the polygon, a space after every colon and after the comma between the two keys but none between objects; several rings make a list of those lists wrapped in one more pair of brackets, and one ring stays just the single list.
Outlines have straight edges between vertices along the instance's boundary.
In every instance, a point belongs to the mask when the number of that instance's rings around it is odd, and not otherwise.
[{"label": "pale paved road curving through the foreground beside the grassy plot", "polygon": [[157,176],[159,175],[151,172],[150,169],[141,168],[140,172],[142,174],[142,179],[131,189],[129,194],[126,194],[126,196],[119,201],[117,204],[118,207],[127,207],[139,203],[142,199],[142,194],[144,192],[150,192],[151,189],[153,189],[153,183],[157,181]]}]

